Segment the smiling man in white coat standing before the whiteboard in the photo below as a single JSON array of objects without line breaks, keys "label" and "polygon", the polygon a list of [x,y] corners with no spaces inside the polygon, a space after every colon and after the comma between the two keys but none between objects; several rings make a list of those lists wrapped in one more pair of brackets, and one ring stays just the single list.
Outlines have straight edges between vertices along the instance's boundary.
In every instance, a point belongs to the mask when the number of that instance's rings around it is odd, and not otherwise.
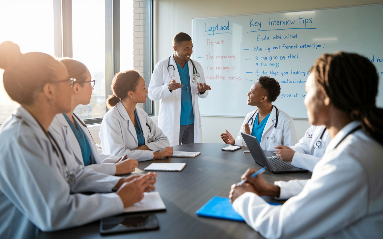
[{"label": "smiling man in white coat standing before the whiteboard", "polygon": [[190,59],[193,42],[186,33],[173,37],[174,54],[155,65],[148,96],[160,100],[158,127],[170,146],[202,142],[198,97],[208,95],[209,85],[200,63]]}]

